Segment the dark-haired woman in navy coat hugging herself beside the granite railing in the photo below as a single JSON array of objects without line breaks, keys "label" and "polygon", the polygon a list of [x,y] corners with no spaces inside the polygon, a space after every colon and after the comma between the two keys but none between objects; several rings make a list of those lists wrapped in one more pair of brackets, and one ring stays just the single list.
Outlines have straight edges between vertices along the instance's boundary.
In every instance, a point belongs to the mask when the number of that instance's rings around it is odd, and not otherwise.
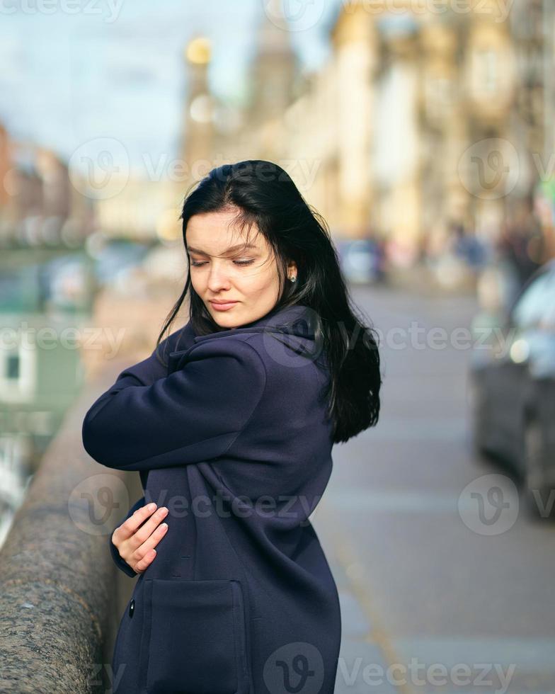
[{"label": "dark-haired woman in navy coat hugging herself beside the granite railing", "polygon": [[[154,353],[83,423],[87,452],[138,470],[145,492],[110,544],[140,574],[114,691],[328,694],[341,616],[308,516],[333,443],[377,423],[377,343],[325,222],[276,164],[214,169],[180,218],[185,288]],[[189,322],[161,342],[185,297]]]}]

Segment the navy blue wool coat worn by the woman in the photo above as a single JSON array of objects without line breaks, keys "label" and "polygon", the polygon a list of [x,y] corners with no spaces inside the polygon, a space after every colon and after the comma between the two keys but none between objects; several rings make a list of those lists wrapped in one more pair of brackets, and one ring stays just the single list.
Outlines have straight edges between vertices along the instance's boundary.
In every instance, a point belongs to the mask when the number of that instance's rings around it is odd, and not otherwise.
[{"label": "navy blue wool coat worn by the woman", "polygon": [[153,353],[88,410],[86,451],[139,471],[130,513],[169,509],[120,621],[116,694],[333,693],[338,592],[308,520],[333,442],[310,317],[297,305],[205,336],[188,323],[161,343],[167,370]]}]

